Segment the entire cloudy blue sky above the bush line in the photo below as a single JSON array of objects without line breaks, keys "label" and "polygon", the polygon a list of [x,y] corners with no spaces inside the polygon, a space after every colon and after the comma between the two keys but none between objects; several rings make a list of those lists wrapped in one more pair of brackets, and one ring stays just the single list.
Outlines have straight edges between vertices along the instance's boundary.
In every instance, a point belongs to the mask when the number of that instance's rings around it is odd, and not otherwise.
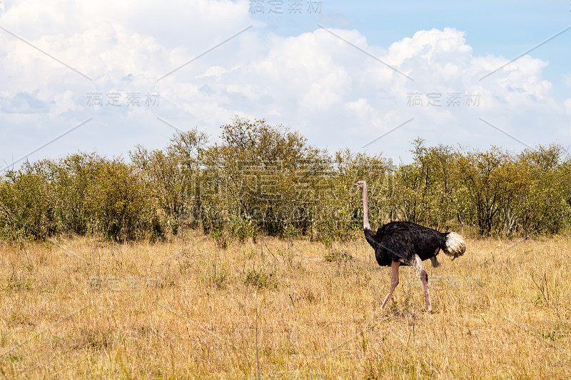
[{"label": "entire cloudy blue sky above the bush line", "polygon": [[396,162],[568,149],[570,48],[570,0],[1,1],[0,171],[236,116]]}]

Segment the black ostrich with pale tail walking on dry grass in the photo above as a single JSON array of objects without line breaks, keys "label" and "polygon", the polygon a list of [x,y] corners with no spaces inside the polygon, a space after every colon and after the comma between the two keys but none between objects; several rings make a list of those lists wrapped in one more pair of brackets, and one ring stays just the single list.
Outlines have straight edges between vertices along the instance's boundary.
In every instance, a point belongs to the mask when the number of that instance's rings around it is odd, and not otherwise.
[{"label": "black ostrich with pale tail walking on dry grass", "polygon": [[440,249],[453,260],[462,256],[466,250],[466,244],[462,236],[455,232],[438,232],[419,224],[409,221],[393,221],[384,224],[373,233],[369,224],[369,206],[367,198],[367,184],[358,181],[357,186],[363,192],[363,229],[365,239],[375,249],[375,258],[380,266],[390,266],[393,271],[388,291],[381,308],[384,308],[393,291],[398,285],[398,267],[400,264],[412,265],[417,269],[420,281],[423,282],[424,295],[426,297],[426,311],[430,313],[433,306],[428,293],[428,274],[423,267],[423,261],[430,259],[433,266],[439,266],[436,255]]}]

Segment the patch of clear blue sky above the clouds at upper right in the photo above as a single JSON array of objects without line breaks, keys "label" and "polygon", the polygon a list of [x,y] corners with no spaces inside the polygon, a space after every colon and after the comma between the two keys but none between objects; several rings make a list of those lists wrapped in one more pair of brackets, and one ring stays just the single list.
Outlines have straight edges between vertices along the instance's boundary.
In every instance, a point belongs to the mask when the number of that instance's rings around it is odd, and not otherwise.
[{"label": "patch of clear blue sky above the clouds at upper right", "polygon": [[[268,29],[282,36],[310,31],[318,22],[326,27],[358,29],[370,44],[380,46],[390,46],[421,29],[453,27],[466,32],[474,54],[508,59],[571,26],[571,1],[351,1],[348,4],[348,1],[325,0],[321,7],[319,15],[305,12],[305,17],[294,20],[287,12],[283,16],[266,13],[253,17],[274,21],[276,25]],[[549,61],[542,74],[552,81],[558,99],[569,98],[570,90],[562,76],[570,71],[571,31],[530,54]]]}]

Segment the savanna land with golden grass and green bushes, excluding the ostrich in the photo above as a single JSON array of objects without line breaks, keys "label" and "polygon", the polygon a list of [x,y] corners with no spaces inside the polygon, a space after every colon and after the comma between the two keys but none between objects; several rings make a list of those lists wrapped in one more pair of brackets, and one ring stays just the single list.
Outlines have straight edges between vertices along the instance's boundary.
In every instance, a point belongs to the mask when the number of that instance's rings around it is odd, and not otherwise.
[{"label": "savanna land with golden grass and green bushes, excluding the ostrich", "polygon": [[[571,378],[565,146],[417,139],[395,163],[238,116],[208,141],[1,173],[0,376]],[[373,230],[467,239],[427,268],[433,313],[408,268],[380,309],[390,269],[364,239],[358,180]]]}]

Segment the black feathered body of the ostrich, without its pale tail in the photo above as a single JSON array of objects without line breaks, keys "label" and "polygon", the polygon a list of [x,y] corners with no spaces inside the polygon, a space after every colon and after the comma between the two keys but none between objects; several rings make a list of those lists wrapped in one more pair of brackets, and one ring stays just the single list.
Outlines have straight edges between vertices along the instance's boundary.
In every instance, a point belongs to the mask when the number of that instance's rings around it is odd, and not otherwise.
[{"label": "black feathered body of the ostrich, without its pale tail", "polygon": [[384,224],[376,234],[365,229],[365,239],[375,249],[380,266],[390,266],[393,261],[410,265],[418,254],[421,260],[436,256],[446,247],[448,232],[438,232],[410,221],[393,221]]}]

